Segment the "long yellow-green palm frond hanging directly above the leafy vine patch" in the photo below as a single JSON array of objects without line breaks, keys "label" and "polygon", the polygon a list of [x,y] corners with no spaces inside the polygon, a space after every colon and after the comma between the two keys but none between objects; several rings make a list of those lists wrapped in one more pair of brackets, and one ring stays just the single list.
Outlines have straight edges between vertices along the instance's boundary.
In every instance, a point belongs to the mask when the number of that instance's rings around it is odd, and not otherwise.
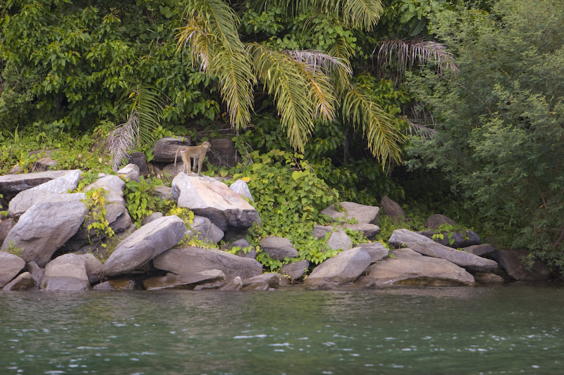
[{"label": "long yellow-green palm frond hanging directly above the leafy vine patch", "polygon": [[303,151],[314,127],[314,110],[309,104],[310,88],[302,68],[286,54],[253,43],[248,47],[260,82],[274,96],[281,125],[290,144]]}]

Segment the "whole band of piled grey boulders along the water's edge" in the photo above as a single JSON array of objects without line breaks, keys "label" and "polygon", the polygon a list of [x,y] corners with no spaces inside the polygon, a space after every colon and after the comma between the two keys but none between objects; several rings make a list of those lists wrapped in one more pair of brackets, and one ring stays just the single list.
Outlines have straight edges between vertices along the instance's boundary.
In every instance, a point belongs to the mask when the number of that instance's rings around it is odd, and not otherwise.
[{"label": "whole band of piled grey boulders along the water's edge", "polygon": [[[479,286],[548,279],[546,266],[537,263],[527,270],[518,250],[496,250],[480,243],[472,231],[450,233],[447,239],[446,233],[437,236],[434,231],[396,229],[388,240],[391,250],[377,241],[353,248],[343,227],[362,231],[372,239],[379,233],[380,208],[351,202],[342,203],[344,212],[333,206],[326,208],[322,213],[335,224],[318,225],[313,233],[324,239],[328,248],[343,251],[313,267],[307,260],[298,260],[298,251],[288,239],[269,236],[262,240],[260,250],[286,264],[280,272],[263,273],[255,260],[256,250],[233,255],[225,249],[176,247],[187,233],[201,241],[226,241],[227,248],[249,246],[243,235],[253,224],[260,224],[260,217],[243,198],[252,201],[244,181],[227,186],[220,179],[180,173],[171,188],[162,186],[156,194],[192,210],[195,219],[191,227],[175,215],[159,214],[147,217],[137,229],[125,208],[123,189],[124,179],[138,178],[139,173],[139,167],[131,164],[117,176],[101,175],[79,193],[73,191],[80,170],[0,177],[0,193],[8,198],[8,217],[0,222],[0,288],[267,291],[290,285],[325,289]],[[105,262],[95,255],[104,252],[107,239],[90,225],[95,222],[93,208],[85,200],[86,192],[93,189],[103,189],[107,225],[120,239]],[[390,200],[382,205],[388,215],[398,215],[401,210]],[[357,224],[348,224],[353,220]],[[450,220],[434,215],[428,222],[428,227],[436,229]]]}]

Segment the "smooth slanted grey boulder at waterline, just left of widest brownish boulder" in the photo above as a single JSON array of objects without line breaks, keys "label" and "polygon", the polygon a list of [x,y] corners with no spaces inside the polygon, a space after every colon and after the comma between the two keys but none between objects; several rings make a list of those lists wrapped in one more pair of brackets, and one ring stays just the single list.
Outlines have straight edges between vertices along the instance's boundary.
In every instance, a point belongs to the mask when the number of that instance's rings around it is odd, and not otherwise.
[{"label": "smooth slanted grey boulder at waterline, just left of widest brownish boulder", "polygon": [[317,288],[349,284],[356,281],[371,262],[372,258],[363,248],[345,250],[315,267],[304,284]]}]

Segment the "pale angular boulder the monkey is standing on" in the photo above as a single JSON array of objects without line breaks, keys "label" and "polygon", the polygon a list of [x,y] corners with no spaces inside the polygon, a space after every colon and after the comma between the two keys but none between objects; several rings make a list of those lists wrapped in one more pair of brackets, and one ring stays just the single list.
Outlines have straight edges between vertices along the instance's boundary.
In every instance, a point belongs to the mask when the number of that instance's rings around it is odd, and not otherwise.
[{"label": "pale angular boulder the monkey is standing on", "polygon": [[195,215],[207,217],[219,229],[248,229],[260,217],[245,199],[212,177],[178,174],[172,182],[178,207],[189,208]]}]

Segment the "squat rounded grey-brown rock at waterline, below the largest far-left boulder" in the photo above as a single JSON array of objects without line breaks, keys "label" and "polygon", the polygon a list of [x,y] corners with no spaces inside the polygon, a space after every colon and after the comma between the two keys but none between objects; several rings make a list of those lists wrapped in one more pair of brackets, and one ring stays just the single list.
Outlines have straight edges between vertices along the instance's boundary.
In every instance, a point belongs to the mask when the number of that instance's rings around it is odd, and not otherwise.
[{"label": "squat rounded grey-brown rock at waterline, below the largest far-left boulder", "polygon": [[39,284],[39,289],[44,291],[85,291],[89,288],[85,258],[72,253],[47,263]]}]

